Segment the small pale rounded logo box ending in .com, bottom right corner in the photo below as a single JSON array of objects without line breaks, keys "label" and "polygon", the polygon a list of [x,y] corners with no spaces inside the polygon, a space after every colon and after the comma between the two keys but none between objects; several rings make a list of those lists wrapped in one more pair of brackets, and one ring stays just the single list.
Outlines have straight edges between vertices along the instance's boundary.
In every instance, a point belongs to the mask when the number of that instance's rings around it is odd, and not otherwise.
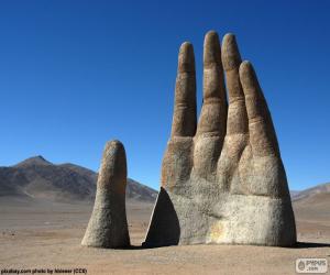
[{"label": "small pale rounded logo box ending in .com, bottom right corner", "polygon": [[322,257],[307,257],[296,260],[297,273],[327,273],[328,260]]}]

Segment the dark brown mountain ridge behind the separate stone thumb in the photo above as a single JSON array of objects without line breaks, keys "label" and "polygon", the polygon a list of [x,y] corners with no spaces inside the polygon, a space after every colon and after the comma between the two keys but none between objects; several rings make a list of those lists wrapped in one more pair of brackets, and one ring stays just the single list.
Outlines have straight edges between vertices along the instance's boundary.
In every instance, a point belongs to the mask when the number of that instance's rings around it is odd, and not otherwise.
[{"label": "dark brown mountain ridge behind the separate stone thumb", "polygon": [[[92,200],[97,177],[88,168],[70,163],[55,165],[43,156],[34,156],[14,166],[0,167],[0,197]],[[154,189],[128,179],[128,199],[152,202],[156,196]]]}]

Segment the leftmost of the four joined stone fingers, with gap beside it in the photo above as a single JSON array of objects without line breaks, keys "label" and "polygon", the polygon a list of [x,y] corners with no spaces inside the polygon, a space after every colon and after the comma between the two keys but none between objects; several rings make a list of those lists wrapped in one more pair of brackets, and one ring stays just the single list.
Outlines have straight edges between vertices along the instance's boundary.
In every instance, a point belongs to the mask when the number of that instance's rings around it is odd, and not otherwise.
[{"label": "leftmost of the four joined stone fingers, with gap beside it", "polygon": [[196,120],[194,47],[190,43],[185,42],[180,46],[178,55],[172,136],[194,136]]}]

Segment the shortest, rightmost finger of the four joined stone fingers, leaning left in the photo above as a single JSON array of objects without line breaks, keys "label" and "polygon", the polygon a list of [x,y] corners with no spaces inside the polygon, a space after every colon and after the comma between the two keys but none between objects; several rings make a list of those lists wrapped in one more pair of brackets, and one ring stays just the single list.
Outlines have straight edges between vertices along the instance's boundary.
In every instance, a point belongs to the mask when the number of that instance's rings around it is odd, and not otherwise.
[{"label": "shortest, rightmost finger of the four joined stone fingers, leaning left", "polygon": [[250,143],[253,155],[279,154],[271,113],[250,62],[241,64],[240,80],[245,96]]}]

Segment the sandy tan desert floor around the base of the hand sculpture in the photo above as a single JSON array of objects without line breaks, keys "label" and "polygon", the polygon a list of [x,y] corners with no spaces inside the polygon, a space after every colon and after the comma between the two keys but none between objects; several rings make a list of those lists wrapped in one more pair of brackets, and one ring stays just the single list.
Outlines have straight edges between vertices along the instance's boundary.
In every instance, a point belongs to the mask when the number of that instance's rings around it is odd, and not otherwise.
[{"label": "sandy tan desert floor around the base of the hand sculpture", "polygon": [[1,198],[0,270],[86,268],[87,274],[295,274],[298,257],[327,257],[330,262],[330,211],[309,212],[305,205],[295,206],[299,244],[292,249],[248,245],[141,249],[152,205],[136,202],[128,204],[134,245],[131,250],[82,248],[80,241],[92,205],[82,202],[66,205]]}]

